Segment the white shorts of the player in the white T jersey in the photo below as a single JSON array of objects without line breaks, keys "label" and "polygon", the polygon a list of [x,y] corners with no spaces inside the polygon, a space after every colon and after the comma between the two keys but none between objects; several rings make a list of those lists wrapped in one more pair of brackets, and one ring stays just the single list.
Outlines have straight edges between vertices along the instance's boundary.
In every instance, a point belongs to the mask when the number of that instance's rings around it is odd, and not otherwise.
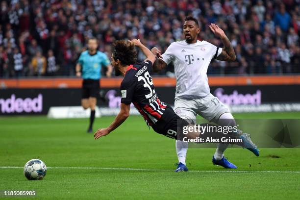
[{"label": "white shorts of the player in the white T jersey", "polygon": [[219,119],[227,112],[230,112],[229,109],[210,93],[199,99],[175,99],[175,113],[183,119],[196,119],[198,114],[210,122],[214,118]]}]

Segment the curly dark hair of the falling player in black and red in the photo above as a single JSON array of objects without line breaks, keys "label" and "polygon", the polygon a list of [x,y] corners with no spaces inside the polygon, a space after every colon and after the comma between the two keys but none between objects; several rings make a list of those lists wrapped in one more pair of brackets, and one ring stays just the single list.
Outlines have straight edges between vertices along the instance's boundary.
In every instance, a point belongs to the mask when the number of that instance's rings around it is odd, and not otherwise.
[{"label": "curly dark hair of the falling player in black and red", "polygon": [[125,40],[117,40],[113,43],[114,50],[112,56],[114,60],[120,60],[122,65],[132,65],[136,63],[137,51],[134,44]]}]

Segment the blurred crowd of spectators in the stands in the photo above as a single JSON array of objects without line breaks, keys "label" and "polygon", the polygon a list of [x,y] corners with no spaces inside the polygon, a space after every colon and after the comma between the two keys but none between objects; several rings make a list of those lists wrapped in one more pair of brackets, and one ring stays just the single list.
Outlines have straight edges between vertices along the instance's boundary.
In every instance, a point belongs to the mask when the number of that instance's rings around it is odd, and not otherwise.
[{"label": "blurred crowd of spectators in the stands", "polygon": [[[187,15],[199,40],[222,47],[208,25],[224,29],[237,56],[214,60],[208,74],[300,73],[300,0],[0,0],[0,77],[75,75],[89,37],[111,55],[114,40],[139,38],[164,52],[184,40]],[[143,59],[143,54],[138,53]],[[158,75],[174,75],[170,65]]]}]

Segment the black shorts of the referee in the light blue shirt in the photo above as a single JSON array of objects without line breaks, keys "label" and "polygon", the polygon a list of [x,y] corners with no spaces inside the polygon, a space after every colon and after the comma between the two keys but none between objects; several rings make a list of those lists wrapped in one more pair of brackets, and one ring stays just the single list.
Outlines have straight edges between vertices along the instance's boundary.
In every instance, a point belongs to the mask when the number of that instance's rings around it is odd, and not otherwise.
[{"label": "black shorts of the referee in the light blue shirt", "polygon": [[94,79],[83,79],[82,81],[82,99],[89,97],[97,98],[99,96],[100,81]]}]

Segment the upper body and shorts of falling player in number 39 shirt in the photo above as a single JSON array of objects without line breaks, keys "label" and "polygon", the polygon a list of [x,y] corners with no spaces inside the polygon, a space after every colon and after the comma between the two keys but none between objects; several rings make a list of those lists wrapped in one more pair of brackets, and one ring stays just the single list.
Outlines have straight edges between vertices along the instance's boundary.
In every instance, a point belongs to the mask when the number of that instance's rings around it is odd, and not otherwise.
[{"label": "upper body and shorts of falling player in number 39 shirt", "polygon": [[[146,55],[147,58],[144,61],[136,62],[135,46]],[[144,117],[147,125],[151,126],[155,132],[176,139],[177,119],[179,117],[172,107],[157,97],[150,76],[154,61],[155,56],[140,40],[119,40],[114,43],[111,65],[116,74],[124,76],[120,88],[122,94],[121,110],[111,125],[95,132],[95,139],[109,134],[126,120],[129,116],[131,102]],[[187,137],[196,138],[198,135],[199,133]]]}]

